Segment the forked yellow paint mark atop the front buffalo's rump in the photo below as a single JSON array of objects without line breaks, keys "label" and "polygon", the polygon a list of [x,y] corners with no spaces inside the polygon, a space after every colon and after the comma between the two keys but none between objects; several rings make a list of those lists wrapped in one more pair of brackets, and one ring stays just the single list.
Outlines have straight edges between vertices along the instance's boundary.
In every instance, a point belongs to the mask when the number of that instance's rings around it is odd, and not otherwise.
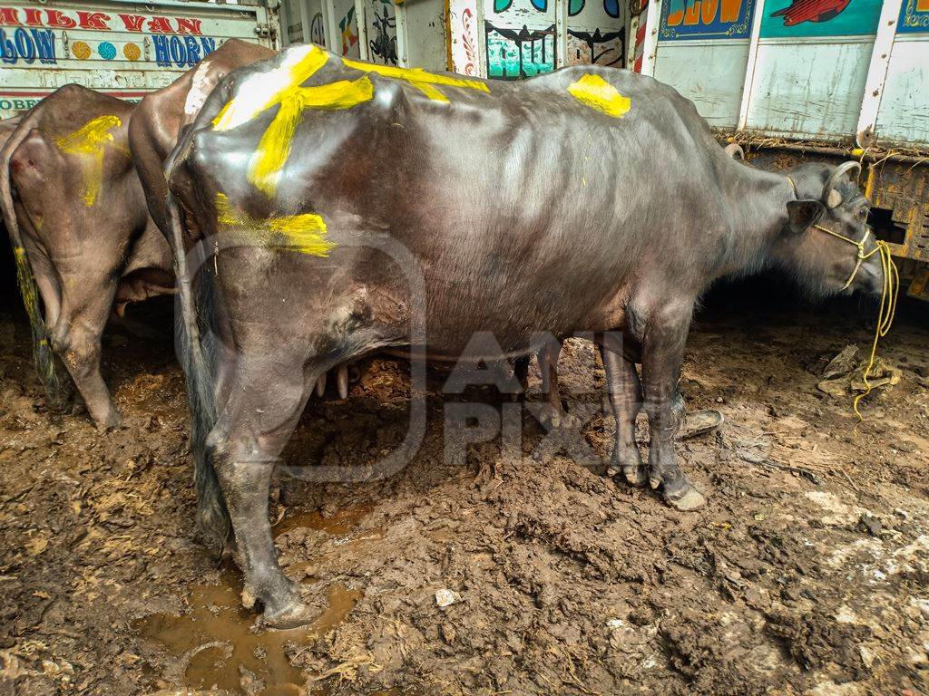
[{"label": "forked yellow paint mark atop the front buffalo's rump", "polygon": [[281,170],[290,157],[291,143],[303,110],[347,110],[374,97],[374,85],[367,77],[351,82],[340,80],[312,87],[301,86],[329,59],[325,51],[312,45],[307,48],[307,54],[292,65],[288,65],[285,58],[280,68],[261,76],[264,86],[260,81],[255,90],[242,85],[239,94],[220,110],[213,121],[214,130],[225,131],[280,105],[258,141],[248,167],[248,180],[268,198],[277,192]]}]

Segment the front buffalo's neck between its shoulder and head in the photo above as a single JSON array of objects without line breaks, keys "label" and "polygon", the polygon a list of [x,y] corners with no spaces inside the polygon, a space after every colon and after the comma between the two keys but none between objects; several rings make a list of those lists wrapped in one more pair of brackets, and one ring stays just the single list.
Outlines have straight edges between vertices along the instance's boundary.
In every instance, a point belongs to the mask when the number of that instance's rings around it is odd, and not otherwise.
[{"label": "front buffalo's neck between its shoulder and head", "polygon": [[745,277],[773,264],[772,248],[794,200],[787,177],[740,165],[723,192],[729,211],[726,254],[719,277]]}]

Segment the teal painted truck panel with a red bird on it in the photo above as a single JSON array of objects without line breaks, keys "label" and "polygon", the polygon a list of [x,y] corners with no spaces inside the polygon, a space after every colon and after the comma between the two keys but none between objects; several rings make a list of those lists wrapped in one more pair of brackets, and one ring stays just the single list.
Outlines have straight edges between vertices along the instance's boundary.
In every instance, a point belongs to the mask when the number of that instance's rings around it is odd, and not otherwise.
[{"label": "teal painted truck panel with a red bird on it", "polygon": [[761,37],[869,36],[882,0],[765,0]]}]

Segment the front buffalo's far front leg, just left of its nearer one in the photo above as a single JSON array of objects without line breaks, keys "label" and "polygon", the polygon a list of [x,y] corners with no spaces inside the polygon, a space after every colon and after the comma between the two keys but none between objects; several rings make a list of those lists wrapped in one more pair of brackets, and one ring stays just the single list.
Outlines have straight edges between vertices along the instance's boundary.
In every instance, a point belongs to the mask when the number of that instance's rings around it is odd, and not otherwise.
[{"label": "front buffalo's far front leg, just left of its nearer one", "polygon": [[600,346],[603,367],[607,372],[609,404],[616,419],[616,435],[610,466],[622,471],[627,483],[645,485],[648,470],[635,445],[635,417],[642,408],[642,383],[635,372],[635,363],[606,345]]}]

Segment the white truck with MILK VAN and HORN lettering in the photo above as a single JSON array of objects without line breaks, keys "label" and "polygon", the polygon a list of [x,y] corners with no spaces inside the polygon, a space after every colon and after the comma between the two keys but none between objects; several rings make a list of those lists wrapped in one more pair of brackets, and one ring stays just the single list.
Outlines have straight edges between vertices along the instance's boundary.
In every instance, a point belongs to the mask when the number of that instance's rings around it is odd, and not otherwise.
[{"label": "white truck with MILK VAN and HORN lettering", "polygon": [[155,0],[0,0],[0,118],[63,84],[139,99],[224,41],[276,47],[263,6]]}]

